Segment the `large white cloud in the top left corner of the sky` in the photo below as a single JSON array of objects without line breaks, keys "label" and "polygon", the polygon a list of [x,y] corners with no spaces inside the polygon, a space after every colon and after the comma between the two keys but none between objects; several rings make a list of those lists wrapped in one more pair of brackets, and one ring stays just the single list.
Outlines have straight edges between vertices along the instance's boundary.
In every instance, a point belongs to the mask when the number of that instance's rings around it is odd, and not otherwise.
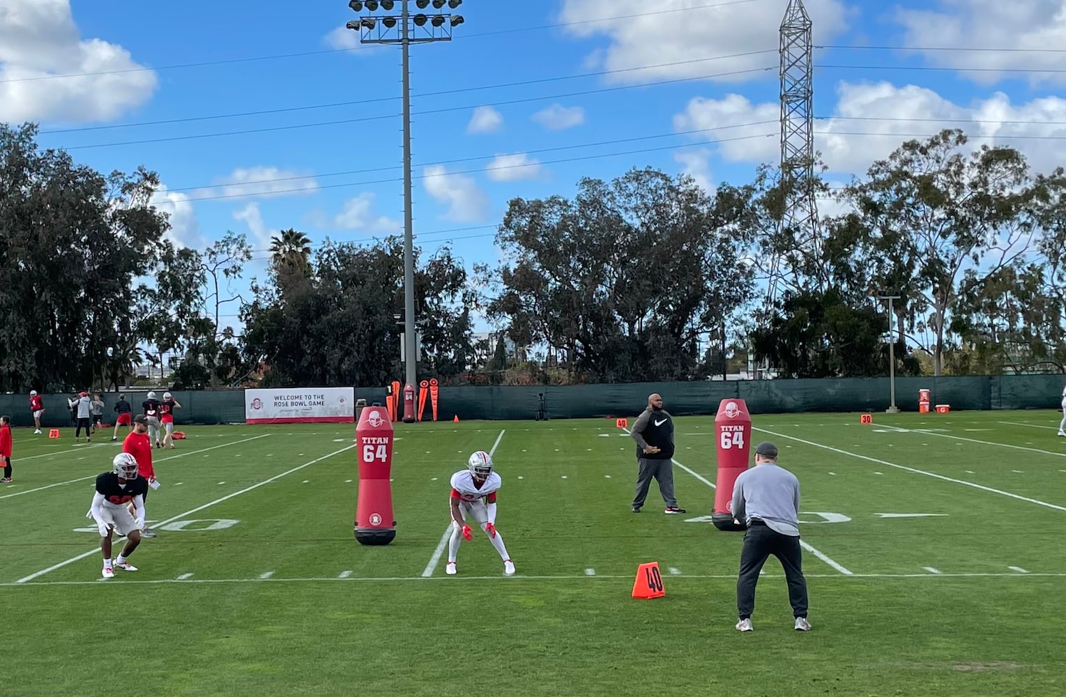
[{"label": "large white cloud in the top left corner of the sky", "polygon": [[0,121],[110,120],[158,84],[122,46],[81,38],[68,0],[0,0]]}]

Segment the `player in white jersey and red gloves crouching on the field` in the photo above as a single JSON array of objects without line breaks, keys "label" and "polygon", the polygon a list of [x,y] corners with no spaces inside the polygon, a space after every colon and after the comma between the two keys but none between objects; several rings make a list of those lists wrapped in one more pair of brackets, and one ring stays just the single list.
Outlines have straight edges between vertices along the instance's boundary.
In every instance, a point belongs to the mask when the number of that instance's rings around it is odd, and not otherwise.
[{"label": "player in white jersey and red gloves crouching on the field", "polygon": [[513,576],[515,563],[507,555],[503,537],[496,531],[496,492],[503,485],[503,480],[492,471],[492,457],[479,450],[470,456],[467,469],[452,474],[451,485],[452,538],[448,541],[445,572],[455,574],[455,557],[459,552],[459,545],[464,539],[473,539],[470,525],[466,524],[468,517],[473,517],[503,560],[503,572]]}]

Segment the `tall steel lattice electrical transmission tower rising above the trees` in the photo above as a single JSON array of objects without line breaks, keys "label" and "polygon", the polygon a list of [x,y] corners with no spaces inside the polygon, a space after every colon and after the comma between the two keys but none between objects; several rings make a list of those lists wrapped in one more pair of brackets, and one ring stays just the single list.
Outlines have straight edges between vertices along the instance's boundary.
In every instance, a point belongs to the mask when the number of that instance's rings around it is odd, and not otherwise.
[{"label": "tall steel lattice electrical transmission tower rising above the trees", "polygon": [[[779,231],[787,234],[779,239],[794,239],[801,246],[796,252],[820,259],[822,244],[814,201],[813,44],[810,16],[803,0],[789,0],[780,39],[781,184],[786,198]],[[776,299],[779,263],[777,259],[772,262],[771,303]]]}]

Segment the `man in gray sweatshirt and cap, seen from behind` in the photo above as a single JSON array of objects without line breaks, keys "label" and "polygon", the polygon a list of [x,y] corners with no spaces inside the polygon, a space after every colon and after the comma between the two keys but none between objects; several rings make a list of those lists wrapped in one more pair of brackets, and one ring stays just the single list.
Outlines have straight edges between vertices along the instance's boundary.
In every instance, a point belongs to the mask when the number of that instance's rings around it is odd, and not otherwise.
[{"label": "man in gray sweatshirt and cap, seen from behind", "polygon": [[800,551],[800,480],[778,467],[774,443],[759,443],[755,449],[755,467],[737,477],[732,514],[737,522],[747,524],[737,579],[737,629],[742,632],[753,629],[755,584],[762,565],[773,554],[785,569],[795,629],[806,632],[810,622],[807,621],[807,581]]}]

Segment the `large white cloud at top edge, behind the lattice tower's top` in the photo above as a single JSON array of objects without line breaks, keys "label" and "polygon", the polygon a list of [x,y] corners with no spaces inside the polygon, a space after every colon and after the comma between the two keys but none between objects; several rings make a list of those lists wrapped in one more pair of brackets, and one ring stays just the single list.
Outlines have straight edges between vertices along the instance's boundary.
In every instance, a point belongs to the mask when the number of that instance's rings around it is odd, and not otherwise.
[{"label": "large white cloud at top edge, behind the lattice tower's top", "polygon": [[[588,61],[597,69],[627,70],[607,76],[609,82],[644,83],[672,78],[698,78],[738,70],[777,69],[778,27],[785,2],[722,3],[695,7],[693,0],[563,0],[560,22],[578,38],[607,36],[605,50],[595,50]],[[813,22],[814,43],[826,43],[845,28],[847,11],[842,0],[806,0]],[[653,7],[653,10],[652,10]],[[678,12],[671,12],[677,10]],[[609,21],[591,21],[621,17]],[[754,51],[768,51],[752,55]],[[714,61],[698,59],[731,55]],[[664,65],[675,63],[677,65]],[[646,66],[663,66],[634,70]],[[742,81],[763,72],[723,76]]]}]

